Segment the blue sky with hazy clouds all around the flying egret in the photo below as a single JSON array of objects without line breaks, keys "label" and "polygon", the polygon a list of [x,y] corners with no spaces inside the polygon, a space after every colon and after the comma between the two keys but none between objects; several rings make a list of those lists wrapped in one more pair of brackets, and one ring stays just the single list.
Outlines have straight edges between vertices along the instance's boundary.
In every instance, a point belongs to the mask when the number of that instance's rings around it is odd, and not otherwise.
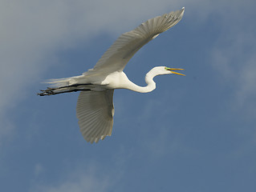
[{"label": "blue sky with hazy clouds all around the flying egret", "polygon": [[[181,9],[171,30],[125,68],[185,69],[156,90],[116,90],[112,137],[91,145],[78,93],[39,97],[47,78],[82,74],[118,36]],[[256,3],[253,0],[0,2],[0,190],[255,191]]]}]

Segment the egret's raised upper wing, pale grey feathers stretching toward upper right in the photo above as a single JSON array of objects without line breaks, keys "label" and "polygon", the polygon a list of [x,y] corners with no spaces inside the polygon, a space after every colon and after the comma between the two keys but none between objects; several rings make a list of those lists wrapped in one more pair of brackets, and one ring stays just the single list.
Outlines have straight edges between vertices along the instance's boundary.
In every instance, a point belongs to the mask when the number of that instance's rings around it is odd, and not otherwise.
[{"label": "egret's raised upper wing, pale grey feathers stretching toward upper right", "polygon": [[142,23],[135,30],[121,34],[96,63],[93,70],[112,73],[124,70],[124,66],[142,46],[165,30],[175,26],[184,14],[185,8],[163,14]]}]

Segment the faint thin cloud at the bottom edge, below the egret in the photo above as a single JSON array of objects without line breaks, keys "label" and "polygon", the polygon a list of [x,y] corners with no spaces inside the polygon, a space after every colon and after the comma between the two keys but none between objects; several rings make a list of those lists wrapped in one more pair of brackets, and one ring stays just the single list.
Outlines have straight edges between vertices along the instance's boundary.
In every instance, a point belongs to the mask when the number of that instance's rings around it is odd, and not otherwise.
[{"label": "faint thin cloud at the bottom edge, below the egret", "polygon": [[[35,178],[31,182],[30,191],[38,192],[104,192],[110,191],[120,179],[124,176],[126,164],[128,161],[127,151],[123,151],[120,147],[113,157],[111,166],[104,166],[96,161],[92,163],[77,162],[71,166],[71,169],[61,170],[59,178],[51,180],[51,182],[43,183],[42,180]],[[43,166],[38,163],[35,165],[35,174],[44,174]]]}]

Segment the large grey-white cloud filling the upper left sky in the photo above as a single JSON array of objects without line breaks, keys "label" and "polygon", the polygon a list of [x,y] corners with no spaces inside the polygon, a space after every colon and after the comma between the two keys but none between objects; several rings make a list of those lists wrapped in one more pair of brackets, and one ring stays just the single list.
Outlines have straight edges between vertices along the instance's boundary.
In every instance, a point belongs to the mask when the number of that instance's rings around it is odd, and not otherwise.
[{"label": "large grey-white cloud filling the upper left sky", "polygon": [[[153,9],[154,4],[148,3],[150,6],[146,8],[143,1],[133,7],[132,2],[114,0],[2,0],[0,109],[1,119],[7,120],[1,121],[1,131],[10,131],[8,111],[26,97],[28,87],[39,82],[48,67],[56,62],[55,52],[103,32],[120,34],[134,27],[134,21],[139,23],[140,18],[147,18],[152,10],[165,9],[164,5]],[[142,12],[141,7],[144,7]]]}]

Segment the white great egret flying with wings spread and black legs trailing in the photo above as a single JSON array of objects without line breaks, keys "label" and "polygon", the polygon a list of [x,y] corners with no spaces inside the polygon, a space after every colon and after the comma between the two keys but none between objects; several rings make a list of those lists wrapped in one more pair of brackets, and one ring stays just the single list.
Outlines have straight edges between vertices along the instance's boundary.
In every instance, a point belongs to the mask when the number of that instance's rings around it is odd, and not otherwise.
[{"label": "white great egret flying with wings spread and black legs trailing", "polygon": [[[153,78],[160,74],[179,74],[166,66],[156,66],[145,76],[148,86],[137,86],[124,74],[124,66],[142,46],[179,22],[185,8],[163,14],[142,23],[135,30],[121,34],[104,53],[93,69],[71,78],[50,79],[52,88],[41,90],[40,96],[81,91],[76,116],[80,131],[87,142],[99,142],[112,134],[113,94],[115,89],[148,93],[156,88]],[[180,74],[184,75],[184,74]]]}]

